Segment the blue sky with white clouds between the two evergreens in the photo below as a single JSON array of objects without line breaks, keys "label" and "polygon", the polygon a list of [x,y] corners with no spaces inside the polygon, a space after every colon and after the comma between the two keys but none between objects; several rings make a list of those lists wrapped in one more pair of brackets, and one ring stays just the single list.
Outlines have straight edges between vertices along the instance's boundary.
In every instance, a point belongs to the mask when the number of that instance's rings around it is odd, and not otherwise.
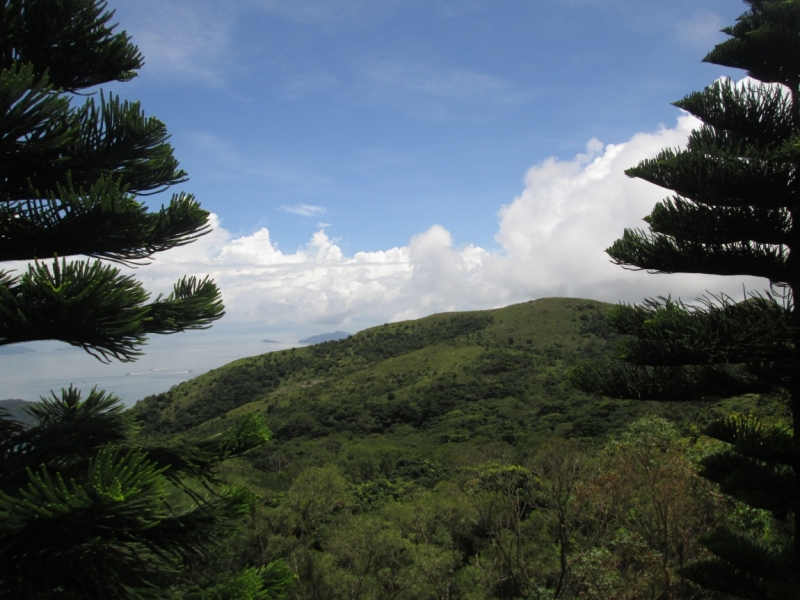
[{"label": "blue sky with white clouds between the two evergreens", "polygon": [[[106,92],[164,121],[214,230],[137,270],[211,275],[216,327],[358,331],[548,296],[638,302],[764,283],[634,273],[605,248],[666,190],[671,105],[735,0],[110,0],[144,54]],[[179,191],[173,189],[172,191]],[[165,196],[148,199],[157,206]]]}]

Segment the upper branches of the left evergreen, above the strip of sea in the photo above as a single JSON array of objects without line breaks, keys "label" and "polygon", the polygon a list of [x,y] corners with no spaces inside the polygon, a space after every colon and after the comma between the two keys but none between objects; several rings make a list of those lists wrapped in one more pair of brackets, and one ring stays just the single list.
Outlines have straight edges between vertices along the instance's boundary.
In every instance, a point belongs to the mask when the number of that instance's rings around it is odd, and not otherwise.
[{"label": "upper branches of the left evergreen, above the strip of sea", "polygon": [[58,339],[127,361],[150,333],[209,326],[223,312],[208,279],[184,278],[150,301],[115,267],[57,258],[142,263],[208,231],[190,194],[155,212],[139,199],[186,180],[161,121],[102,93],[73,104],[71,92],[134,77],[138,49],[114,33],[104,2],[1,10],[0,260],[35,262],[0,274],[0,344]]}]

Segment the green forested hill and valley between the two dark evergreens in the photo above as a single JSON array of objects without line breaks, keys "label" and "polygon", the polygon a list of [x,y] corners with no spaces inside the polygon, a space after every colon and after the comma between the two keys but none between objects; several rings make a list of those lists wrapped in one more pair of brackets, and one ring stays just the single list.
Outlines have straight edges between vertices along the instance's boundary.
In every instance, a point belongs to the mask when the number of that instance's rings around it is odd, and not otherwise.
[{"label": "green forested hill and valley between the two dark evergreens", "polygon": [[[257,494],[215,561],[282,558],[302,599],[724,598],[678,570],[724,524],[790,532],[698,475],[727,414],[785,420],[780,398],[610,400],[567,380],[613,353],[609,305],[550,298],[392,323],[237,361],[133,409],[149,443],[273,435],[222,464]],[[204,575],[207,575],[205,573]]]}]

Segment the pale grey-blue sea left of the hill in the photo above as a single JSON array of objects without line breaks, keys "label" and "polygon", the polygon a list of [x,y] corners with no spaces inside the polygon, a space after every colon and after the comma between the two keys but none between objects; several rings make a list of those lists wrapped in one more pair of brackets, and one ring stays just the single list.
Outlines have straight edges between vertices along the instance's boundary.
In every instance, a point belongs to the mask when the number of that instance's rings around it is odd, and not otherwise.
[{"label": "pale grey-blue sea left of the hill", "polygon": [[[0,399],[38,400],[70,384],[88,392],[93,386],[113,392],[127,405],[167,391],[234,360],[299,347],[301,335],[190,331],[153,336],[134,362],[103,364],[80,348],[61,342],[32,342],[0,347]],[[265,343],[264,339],[278,343]],[[9,354],[19,350],[20,354]]]}]

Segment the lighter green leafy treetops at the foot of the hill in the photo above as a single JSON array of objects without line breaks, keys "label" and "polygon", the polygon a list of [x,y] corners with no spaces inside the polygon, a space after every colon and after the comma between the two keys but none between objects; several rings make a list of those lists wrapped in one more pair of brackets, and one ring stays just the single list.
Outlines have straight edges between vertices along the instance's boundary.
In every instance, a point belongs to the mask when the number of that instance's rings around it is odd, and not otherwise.
[{"label": "lighter green leafy treetops at the foot of the hill", "polygon": [[267,492],[229,560],[282,558],[298,600],[722,600],[679,575],[723,515],[693,461],[707,442],[658,417],[596,442],[461,467],[405,458],[366,481],[308,466]]}]

